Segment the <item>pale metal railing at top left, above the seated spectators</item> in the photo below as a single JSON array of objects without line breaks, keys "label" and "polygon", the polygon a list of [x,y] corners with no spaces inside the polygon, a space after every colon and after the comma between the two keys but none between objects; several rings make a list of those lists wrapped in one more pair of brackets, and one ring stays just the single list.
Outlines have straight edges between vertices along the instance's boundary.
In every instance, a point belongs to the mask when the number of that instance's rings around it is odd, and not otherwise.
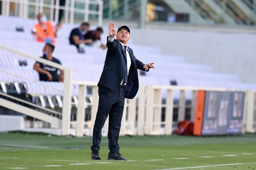
[{"label": "pale metal railing at top left, above the seated spectators", "polygon": [[[0,0],[2,1],[2,14],[3,16],[10,16],[10,3],[15,3],[15,11],[19,11],[18,17],[28,18],[29,7],[35,8],[34,17],[38,13],[49,11],[49,20],[58,21],[59,9],[64,10],[64,23],[74,23],[75,13],[84,14],[84,21],[89,20],[89,14],[98,16],[98,25],[102,26],[103,2],[102,0],[66,0],[65,6],[60,6],[60,0]],[[76,8],[75,4],[81,3],[84,9]],[[89,5],[97,5],[98,10],[89,10]],[[54,12],[55,9],[55,12]],[[70,17],[69,17],[70,16]]]}]

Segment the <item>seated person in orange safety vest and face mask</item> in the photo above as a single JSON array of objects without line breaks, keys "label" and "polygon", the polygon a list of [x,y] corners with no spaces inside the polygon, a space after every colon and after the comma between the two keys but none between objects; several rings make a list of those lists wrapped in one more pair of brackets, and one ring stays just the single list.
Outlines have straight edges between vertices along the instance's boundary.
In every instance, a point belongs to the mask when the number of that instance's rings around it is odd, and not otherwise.
[{"label": "seated person in orange safety vest and face mask", "polygon": [[37,15],[38,23],[32,27],[32,34],[35,35],[37,42],[56,43],[57,30],[55,31],[51,21],[47,21],[44,14]]}]

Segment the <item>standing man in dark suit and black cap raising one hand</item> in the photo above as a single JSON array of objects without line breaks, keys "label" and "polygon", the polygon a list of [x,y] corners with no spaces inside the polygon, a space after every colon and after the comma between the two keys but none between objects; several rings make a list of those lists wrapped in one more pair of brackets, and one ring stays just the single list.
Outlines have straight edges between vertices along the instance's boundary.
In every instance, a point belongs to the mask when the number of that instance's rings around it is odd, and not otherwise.
[{"label": "standing man in dark suit and black cap raising one hand", "polygon": [[[93,127],[93,145],[91,146],[91,158],[101,159],[99,156],[99,144],[101,142],[102,127],[109,115],[108,124],[108,160],[127,161],[119,153],[119,132],[125,98],[132,99],[139,89],[137,69],[148,71],[154,68],[152,64],[144,64],[134,56],[134,52],[127,46],[130,40],[130,29],[121,26],[116,32],[114,23],[108,26],[107,37],[108,51],[105,65],[100,77],[99,106]],[[114,39],[116,35],[116,40]]]}]

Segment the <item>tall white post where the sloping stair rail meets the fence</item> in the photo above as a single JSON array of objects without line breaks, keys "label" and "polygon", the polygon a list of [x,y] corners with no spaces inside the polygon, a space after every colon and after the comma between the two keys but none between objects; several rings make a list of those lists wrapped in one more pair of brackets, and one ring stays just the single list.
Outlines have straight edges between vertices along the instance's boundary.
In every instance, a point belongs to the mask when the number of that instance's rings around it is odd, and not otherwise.
[{"label": "tall white post where the sloping stair rail meets the fence", "polygon": [[64,70],[61,135],[70,135],[72,69]]}]

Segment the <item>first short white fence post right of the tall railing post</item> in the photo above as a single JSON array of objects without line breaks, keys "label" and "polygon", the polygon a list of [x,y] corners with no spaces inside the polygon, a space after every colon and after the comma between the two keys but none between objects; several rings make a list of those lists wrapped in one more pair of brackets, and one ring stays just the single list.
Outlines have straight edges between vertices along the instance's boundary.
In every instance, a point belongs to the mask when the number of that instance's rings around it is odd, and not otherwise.
[{"label": "first short white fence post right of the tall railing post", "polygon": [[85,97],[86,97],[86,86],[79,85],[79,95],[78,95],[78,109],[76,113],[76,136],[84,135],[84,118],[85,118]]}]

